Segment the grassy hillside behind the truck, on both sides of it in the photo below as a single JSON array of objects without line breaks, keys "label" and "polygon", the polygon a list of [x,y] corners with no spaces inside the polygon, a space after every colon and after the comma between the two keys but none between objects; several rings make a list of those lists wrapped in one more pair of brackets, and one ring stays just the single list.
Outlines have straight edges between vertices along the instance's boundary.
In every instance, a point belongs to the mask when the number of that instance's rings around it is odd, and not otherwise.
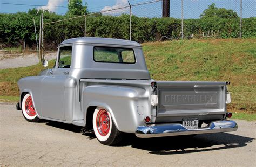
[{"label": "grassy hillside behind the truck, on both sides of it", "polygon": [[[256,114],[256,38],[145,43],[143,51],[153,79],[231,81],[228,109]],[[18,79],[42,69],[42,65],[1,69],[0,99],[18,96]]]}]

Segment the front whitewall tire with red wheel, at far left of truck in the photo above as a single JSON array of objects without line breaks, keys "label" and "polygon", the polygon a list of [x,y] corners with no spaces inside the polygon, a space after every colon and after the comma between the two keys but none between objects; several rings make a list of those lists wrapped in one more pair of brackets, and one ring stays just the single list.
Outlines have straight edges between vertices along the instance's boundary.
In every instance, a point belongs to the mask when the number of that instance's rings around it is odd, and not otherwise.
[{"label": "front whitewall tire with red wheel, at far left of truck", "polygon": [[27,93],[22,99],[22,115],[29,122],[39,122],[40,119],[36,115],[36,109],[33,105],[32,96]]}]

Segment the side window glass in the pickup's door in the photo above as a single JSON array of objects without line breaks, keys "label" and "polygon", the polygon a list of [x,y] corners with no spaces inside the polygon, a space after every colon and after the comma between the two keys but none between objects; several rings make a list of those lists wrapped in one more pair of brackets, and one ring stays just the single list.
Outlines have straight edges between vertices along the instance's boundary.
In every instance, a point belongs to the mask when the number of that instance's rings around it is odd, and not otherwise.
[{"label": "side window glass in the pickup's door", "polygon": [[59,68],[70,68],[71,65],[72,46],[64,46],[59,49]]}]

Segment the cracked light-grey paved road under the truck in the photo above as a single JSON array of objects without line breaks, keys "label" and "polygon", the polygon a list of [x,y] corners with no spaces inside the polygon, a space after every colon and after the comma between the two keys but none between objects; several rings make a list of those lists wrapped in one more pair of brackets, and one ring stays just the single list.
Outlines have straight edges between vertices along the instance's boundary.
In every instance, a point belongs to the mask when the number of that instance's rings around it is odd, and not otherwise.
[{"label": "cracked light-grey paved road under the truck", "polygon": [[238,131],[194,138],[130,137],[121,147],[100,144],[80,127],[30,123],[15,105],[0,105],[0,166],[255,166],[256,122],[237,120]]}]

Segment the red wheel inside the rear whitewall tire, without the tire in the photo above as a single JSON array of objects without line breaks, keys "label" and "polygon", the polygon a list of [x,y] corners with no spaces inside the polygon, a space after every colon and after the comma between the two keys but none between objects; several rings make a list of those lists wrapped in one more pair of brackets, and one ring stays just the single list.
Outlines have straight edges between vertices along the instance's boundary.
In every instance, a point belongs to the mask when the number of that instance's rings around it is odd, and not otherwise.
[{"label": "red wheel inside the rear whitewall tire, without the tire", "polygon": [[106,136],[110,130],[109,113],[105,109],[99,110],[96,119],[97,130],[100,135]]}]

